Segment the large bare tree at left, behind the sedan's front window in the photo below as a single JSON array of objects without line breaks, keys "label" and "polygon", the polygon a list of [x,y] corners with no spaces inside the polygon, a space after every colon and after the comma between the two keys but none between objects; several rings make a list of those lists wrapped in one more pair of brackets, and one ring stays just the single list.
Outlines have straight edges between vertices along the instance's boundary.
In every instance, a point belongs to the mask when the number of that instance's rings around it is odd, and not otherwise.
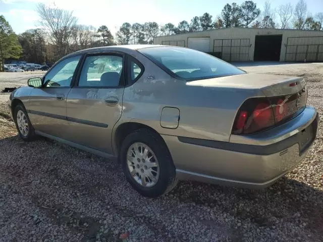
[{"label": "large bare tree at left, behind the sedan's front window", "polygon": [[49,39],[56,46],[58,57],[66,55],[72,38],[72,27],[77,22],[73,12],[38,4],[37,13],[39,24],[46,29]]}]

